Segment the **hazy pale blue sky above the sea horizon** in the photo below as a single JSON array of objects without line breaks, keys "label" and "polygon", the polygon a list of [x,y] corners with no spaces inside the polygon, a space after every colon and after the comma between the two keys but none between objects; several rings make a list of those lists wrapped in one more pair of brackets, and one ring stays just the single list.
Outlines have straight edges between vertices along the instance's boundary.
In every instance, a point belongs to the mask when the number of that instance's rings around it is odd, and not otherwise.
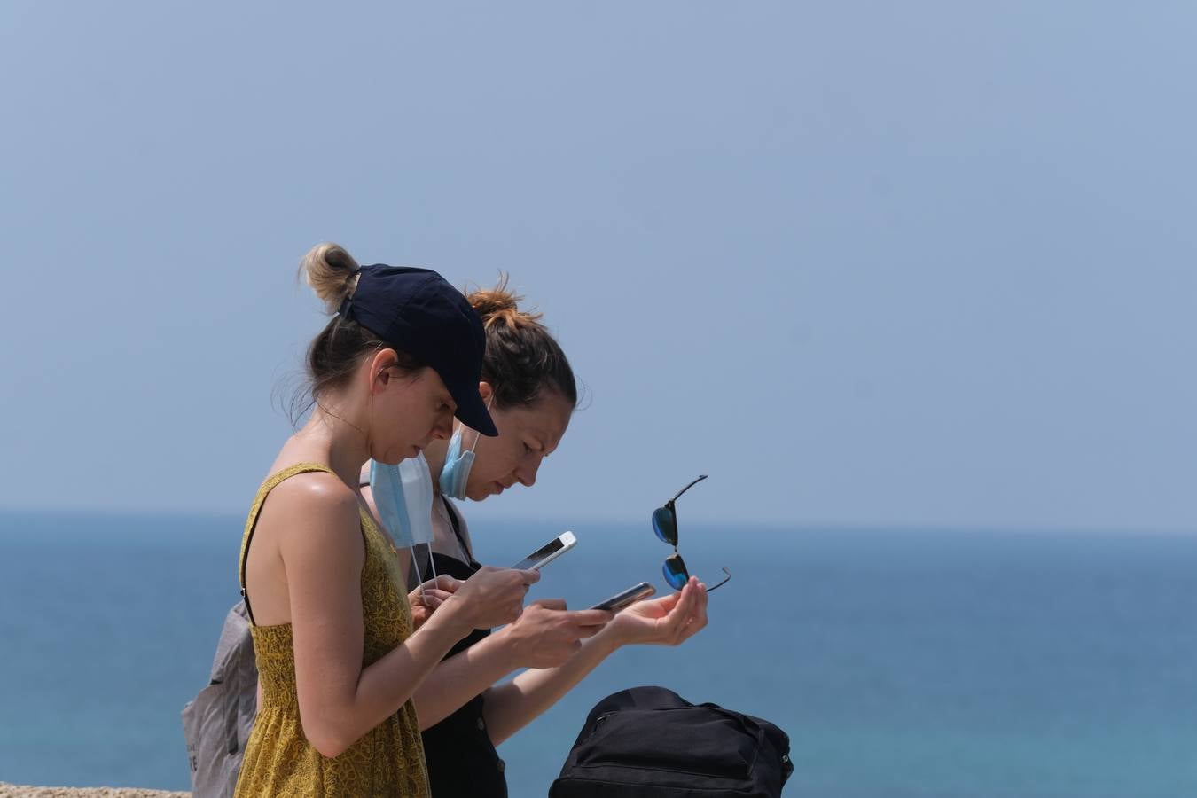
[{"label": "hazy pale blue sky above the sea horizon", "polygon": [[243,512],[332,239],[545,311],[472,518],[1197,529],[1190,2],[0,6],[0,507]]}]

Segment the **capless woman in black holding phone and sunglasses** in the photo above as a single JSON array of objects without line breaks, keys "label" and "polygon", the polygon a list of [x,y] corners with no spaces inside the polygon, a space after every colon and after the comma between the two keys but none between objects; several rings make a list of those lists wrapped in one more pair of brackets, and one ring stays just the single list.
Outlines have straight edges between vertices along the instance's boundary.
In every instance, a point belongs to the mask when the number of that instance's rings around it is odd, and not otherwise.
[{"label": "capless woman in black holding phone and sunglasses", "polygon": [[[505,282],[466,298],[486,329],[480,392],[498,435],[484,437],[460,420],[450,440],[429,445],[425,458],[436,489],[435,568],[414,581],[437,573],[444,585],[448,577],[468,579],[482,567],[474,559],[466,519],[450,499],[482,501],[515,485],[535,485],[578,403],[573,370],[560,345],[539,315],[519,309],[519,297]],[[426,607],[417,609],[427,614]],[[633,644],[679,645],[705,626],[706,590],[692,578],[681,591],[633,604],[614,619],[541,599],[503,629],[472,631],[415,693],[433,798],[505,798],[505,765],[496,745],[547,711],[614,651]],[[523,668],[530,670],[499,683]]]}]

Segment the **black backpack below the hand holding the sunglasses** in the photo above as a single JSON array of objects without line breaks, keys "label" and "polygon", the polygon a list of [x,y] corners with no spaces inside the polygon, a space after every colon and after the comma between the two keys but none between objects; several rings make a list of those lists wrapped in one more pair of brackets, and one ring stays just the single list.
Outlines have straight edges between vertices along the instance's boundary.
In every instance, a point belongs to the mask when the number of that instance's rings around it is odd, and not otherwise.
[{"label": "black backpack below the hand holding the sunglasses", "polygon": [[548,794],[773,798],[792,772],[790,738],[767,720],[636,687],[595,705]]}]

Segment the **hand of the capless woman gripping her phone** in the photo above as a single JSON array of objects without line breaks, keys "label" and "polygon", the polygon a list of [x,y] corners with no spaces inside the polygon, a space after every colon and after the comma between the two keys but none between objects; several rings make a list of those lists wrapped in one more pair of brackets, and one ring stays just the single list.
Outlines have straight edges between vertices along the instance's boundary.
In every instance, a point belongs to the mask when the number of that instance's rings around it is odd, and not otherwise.
[{"label": "hand of the capless woman gripping her phone", "polygon": [[511,668],[557,668],[612,620],[606,610],[569,610],[560,598],[542,598],[499,634]]}]

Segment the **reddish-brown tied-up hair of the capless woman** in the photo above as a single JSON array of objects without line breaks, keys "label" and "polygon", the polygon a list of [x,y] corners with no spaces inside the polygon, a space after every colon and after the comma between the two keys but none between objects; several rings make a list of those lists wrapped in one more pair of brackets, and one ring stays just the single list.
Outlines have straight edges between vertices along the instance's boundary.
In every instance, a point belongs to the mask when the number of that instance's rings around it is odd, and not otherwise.
[{"label": "reddish-brown tied-up hair of the capless woman", "polygon": [[573,368],[543,324],[540,313],[519,310],[518,297],[508,291],[503,275],[494,288],[466,293],[486,328],[482,379],[494,391],[498,407],[533,404],[546,390],[578,404]]}]

